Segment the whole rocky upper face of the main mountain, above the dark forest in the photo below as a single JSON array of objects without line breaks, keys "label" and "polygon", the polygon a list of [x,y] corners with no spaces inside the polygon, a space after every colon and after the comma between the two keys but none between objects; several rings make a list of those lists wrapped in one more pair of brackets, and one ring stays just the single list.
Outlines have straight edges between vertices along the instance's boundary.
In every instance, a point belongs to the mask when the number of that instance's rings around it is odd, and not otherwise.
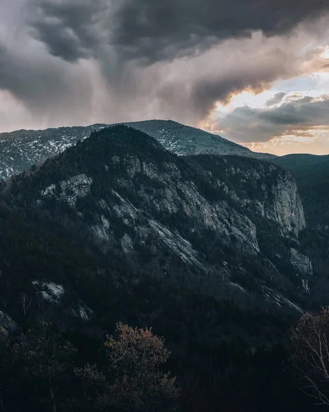
[{"label": "whole rocky upper face of the main mountain, above the dark forest", "polygon": [[87,230],[104,253],[116,251],[133,270],[217,297],[256,293],[298,307],[291,299],[299,299],[308,273],[295,276],[296,287],[263,242],[266,231],[272,249],[285,238],[280,259],[293,267],[284,256],[290,243],[298,249],[305,226],[293,179],[273,165],[177,157],[152,137],[116,126],[5,186],[12,201]]}]

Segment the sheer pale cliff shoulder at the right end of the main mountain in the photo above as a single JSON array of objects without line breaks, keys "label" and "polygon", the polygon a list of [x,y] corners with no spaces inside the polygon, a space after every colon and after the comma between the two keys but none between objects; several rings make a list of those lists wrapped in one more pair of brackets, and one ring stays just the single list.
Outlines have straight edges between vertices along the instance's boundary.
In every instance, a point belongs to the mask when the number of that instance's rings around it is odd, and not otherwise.
[{"label": "sheer pale cliff shoulder at the right end of the main mountain", "polygon": [[305,229],[297,185],[284,170],[241,157],[199,156],[188,160],[202,166],[212,185],[238,207],[275,223],[283,236],[297,238]]}]

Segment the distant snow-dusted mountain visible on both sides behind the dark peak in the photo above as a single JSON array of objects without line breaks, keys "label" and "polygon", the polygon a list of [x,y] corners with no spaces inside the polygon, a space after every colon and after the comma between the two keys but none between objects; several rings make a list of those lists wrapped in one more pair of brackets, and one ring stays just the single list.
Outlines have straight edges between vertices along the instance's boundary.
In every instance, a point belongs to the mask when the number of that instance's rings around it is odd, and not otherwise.
[{"label": "distant snow-dusted mountain visible on both sides behind the dark peak", "polygon": [[[130,124],[138,130],[155,137],[166,149],[177,155],[218,153],[220,155],[241,155],[256,158],[272,158],[271,155],[251,152],[217,135],[182,124],[151,120]],[[84,140],[93,130],[100,130],[105,124],[86,127],[62,127],[47,130],[19,130],[0,134],[0,179],[28,170],[32,165],[53,157],[66,148]]]}]

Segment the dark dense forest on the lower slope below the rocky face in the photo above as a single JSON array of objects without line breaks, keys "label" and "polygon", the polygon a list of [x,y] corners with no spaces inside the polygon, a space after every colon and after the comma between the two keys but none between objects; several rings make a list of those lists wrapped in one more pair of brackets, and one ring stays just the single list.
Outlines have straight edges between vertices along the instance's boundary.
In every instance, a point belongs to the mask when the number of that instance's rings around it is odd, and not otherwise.
[{"label": "dark dense forest on the lower slope below the rocky face", "polygon": [[[74,371],[106,367],[102,348],[120,321],[164,337],[172,352],[166,367],[177,377],[182,411],[276,411],[299,402],[299,409],[310,410],[312,402],[297,389],[289,365],[286,344],[294,319],[218,301],[143,273],[137,282],[115,257],[109,264],[98,251],[84,251],[49,218],[2,207],[0,222],[1,309],[19,324],[14,336],[3,335],[3,411],[53,410],[47,365],[34,371],[48,355],[30,353],[45,350],[42,345],[54,345],[47,350],[54,350],[57,410],[84,410],[86,394]],[[47,277],[65,285],[60,304],[45,301],[29,282]],[[97,308],[89,321],[75,316],[77,299]],[[46,335],[41,319],[48,325]],[[88,404],[93,408],[100,405]]]}]

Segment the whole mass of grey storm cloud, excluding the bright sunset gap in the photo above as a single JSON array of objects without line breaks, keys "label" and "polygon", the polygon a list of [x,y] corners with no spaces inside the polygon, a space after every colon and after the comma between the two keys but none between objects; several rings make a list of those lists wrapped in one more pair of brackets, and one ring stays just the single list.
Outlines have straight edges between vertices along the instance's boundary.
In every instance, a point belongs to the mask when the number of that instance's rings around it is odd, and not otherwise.
[{"label": "whole mass of grey storm cloud, excluding the bright sunset gap", "polygon": [[219,100],[310,72],[301,51],[326,25],[296,25],[329,2],[296,2],[0,0],[0,124],[16,121],[1,111],[10,95],[42,126],[155,117],[196,126]]}]

